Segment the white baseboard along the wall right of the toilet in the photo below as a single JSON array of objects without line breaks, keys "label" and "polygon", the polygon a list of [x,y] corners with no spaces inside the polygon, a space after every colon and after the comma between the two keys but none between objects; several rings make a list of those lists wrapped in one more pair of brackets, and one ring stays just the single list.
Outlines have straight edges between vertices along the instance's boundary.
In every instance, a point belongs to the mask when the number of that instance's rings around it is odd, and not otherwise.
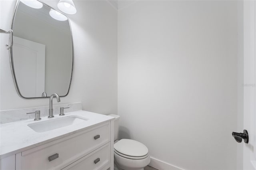
[{"label": "white baseboard along the wall right of the toilet", "polygon": [[182,168],[168,164],[162,160],[158,160],[153,157],[150,157],[150,163],[148,165],[158,170],[182,170]]}]

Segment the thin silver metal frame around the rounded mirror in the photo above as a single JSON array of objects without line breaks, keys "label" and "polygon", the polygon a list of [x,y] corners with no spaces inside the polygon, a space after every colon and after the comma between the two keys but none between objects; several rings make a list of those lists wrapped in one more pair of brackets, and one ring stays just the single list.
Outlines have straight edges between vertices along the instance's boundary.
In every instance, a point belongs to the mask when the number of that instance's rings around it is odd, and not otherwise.
[{"label": "thin silver metal frame around the rounded mirror", "polygon": [[[49,6],[48,4],[42,2],[41,0],[37,0],[39,2],[41,2],[42,4],[48,6],[49,8],[52,8],[51,6]],[[11,26],[10,28],[12,29],[12,26],[13,26],[13,22],[14,22],[14,18],[15,18],[15,15],[16,15],[16,11],[17,11],[17,8],[18,8],[18,4],[20,3],[20,0],[17,0],[16,2],[16,5],[15,5],[15,8],[14,8],[14,12],[13,12],[13,16],[12,16],[12,21],[11,21]],[[54,10],[56,10],[55,8],[52,8]],[[59,10],[56,10],[58,12],[60,12],[61,14],[63,14],[63,12],[59,11]],[[64,16],[66,16],[65,14],[63,14]],[[66,16],[67,17],[67,16]],[[68,18],[68,17],[67,17]],[[69,27],[70,27],[70,32],[71,32],[71,41],[72,41],[72,70],[71,70],[71,78],[70,78],[70,84],[69,84],[69,87],[68,87],[68,92],[66,95],[64,96],[60,96],[60,97],[66,97],[70,91],[70,87],[71,87],[71,82],[72,82],[72,77],[73,77],[73,69],[74,69],[74,43],[73,43],[73,35],[72,35],[72,29],[71,29],[71,24],[70,24],[70,20],[68,18],[68,23],[69,23]],[[15,85],[15,88],[16,88],[16,91],[18,93],[18,95],[22,98],[22,99],[44,99],[44,98],[49,98],[50,96],[48,97],[24,97],[22,96],[22,94],[20,93],[20,89],[18,87],[18,83],[16,81],[16,76],[15,76],[15,71],[14,71],[14,64],[13,64],[13,55],[12,55],[12,47],[9,49],[9,59],[10,59],[10,67],[11,67],[11,71],[12,71],[12,79],[14,81],[14,85]]]}]

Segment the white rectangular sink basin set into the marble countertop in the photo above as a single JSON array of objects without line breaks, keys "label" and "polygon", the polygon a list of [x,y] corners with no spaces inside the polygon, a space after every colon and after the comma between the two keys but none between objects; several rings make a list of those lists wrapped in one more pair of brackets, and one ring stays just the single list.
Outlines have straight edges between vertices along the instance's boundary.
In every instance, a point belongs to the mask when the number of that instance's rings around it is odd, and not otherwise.
[{"label": "white rectangular sink basin set into the marble countertop", "polygon": [[28,124],[28,127],[32,128],[36,132],[46,132],[56,128],[77,125],[78,123],[85,123],[87,120],[88,119],[79,116],[67,116],[56,119],[51,118],[51,120],[48,121],[30,123]]}]

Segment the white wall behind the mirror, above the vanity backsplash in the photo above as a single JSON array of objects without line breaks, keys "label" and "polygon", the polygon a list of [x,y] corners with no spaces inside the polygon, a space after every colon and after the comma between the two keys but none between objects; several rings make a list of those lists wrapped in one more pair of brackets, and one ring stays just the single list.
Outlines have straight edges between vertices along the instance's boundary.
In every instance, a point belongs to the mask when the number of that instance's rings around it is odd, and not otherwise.
[{"label": "white wall behind the mirror, above the vanity backsplash", "polygon": [[[58,0],[43,1],[57,8]],[[2,29],[10,29],[15,3],[0,1]],[[117,11],[104,0],[74,0],[74,4],[77,13],[68,15],[74,40],[74,74],[70,93],[60,103],[82,101],[86,111],[117,113]],[[0,109],[48,105],[49,99],[25,100],[18,96],[4,46],[8,35],[0,36]]]}]

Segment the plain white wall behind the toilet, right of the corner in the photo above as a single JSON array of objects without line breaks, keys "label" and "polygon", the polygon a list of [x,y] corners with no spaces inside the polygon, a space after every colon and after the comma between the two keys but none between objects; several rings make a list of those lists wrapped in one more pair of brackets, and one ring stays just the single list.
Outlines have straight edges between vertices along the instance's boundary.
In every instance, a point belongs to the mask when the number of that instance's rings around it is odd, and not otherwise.
[{"label": "plain white wall behind the toilet, right of the corner", "polygon": [[237,2],[118,10],[120,138],[187,170],[236,169]]}]

